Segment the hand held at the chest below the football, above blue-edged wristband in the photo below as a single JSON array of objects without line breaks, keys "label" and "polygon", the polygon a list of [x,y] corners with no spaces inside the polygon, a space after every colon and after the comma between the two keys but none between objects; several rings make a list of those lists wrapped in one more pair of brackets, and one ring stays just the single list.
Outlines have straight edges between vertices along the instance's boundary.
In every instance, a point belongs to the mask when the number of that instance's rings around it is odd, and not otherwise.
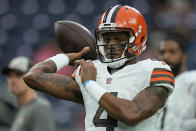
[{"label": "hand held at the chest below the football, above blue-edged wristband", "polygon": [[82,84],[87,80],[96,80],[97,69],[91,60],[85,61],[84,59],[78,60],[77,65],[80,65],[80,76]]}]

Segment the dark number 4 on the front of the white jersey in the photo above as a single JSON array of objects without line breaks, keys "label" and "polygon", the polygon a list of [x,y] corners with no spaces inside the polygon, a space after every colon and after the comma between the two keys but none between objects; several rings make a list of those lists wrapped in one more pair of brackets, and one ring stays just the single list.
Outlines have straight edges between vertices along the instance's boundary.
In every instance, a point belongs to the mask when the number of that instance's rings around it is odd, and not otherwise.
[{"label": "dark number 4 on the front of the white jersey", "polygon": [[[111,94],[117,96],[118,92],[111,92]],[[117,120],[112,118],[109,114],[107,115],[107,119],[100,119],[103,111],[104,108],[99,106],[93,118],[93,124],[95,127],[106,127],[106,131],[114,131],[114,127],[117,127]]]}]

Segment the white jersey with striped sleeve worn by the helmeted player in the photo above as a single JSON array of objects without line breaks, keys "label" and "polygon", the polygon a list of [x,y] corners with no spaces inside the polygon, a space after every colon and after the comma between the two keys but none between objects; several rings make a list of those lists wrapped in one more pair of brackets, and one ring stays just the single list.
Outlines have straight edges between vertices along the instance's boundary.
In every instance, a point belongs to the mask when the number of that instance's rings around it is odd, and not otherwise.
[{"label": "white jersey with striped sleeve worn by the helmeted player", "polygon": [[[100,61],[94,61],[94,65],[97,68],[96,82],[118,98],[133,100],[139,92],[150,85],[164,86],[170,91],[173,90],[173,74],[169,66],[160,61],[151,59],[140,61],[125,66],[113,74],[110,74],[107,65]],[[153,129],[161,110],[136,126],[128,126],[117,121],[86,92],[78,72],[76,71],[75,79],[83,95],[86,131],[151,131]]]}]

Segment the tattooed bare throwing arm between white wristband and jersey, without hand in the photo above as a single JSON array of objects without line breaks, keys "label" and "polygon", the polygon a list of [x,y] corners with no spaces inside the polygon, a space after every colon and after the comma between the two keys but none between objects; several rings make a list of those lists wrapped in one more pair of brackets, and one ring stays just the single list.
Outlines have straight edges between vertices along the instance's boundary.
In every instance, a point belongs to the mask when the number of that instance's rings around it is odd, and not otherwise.
[{"label": "tattooed bare throwing arm between white wristband and jersey, without hand", "polygon": [[82,104],[82,94],[78,84],[71,77],[55,72],[55,63],[46,61],[33,66],[23,79],[33,89]]}]

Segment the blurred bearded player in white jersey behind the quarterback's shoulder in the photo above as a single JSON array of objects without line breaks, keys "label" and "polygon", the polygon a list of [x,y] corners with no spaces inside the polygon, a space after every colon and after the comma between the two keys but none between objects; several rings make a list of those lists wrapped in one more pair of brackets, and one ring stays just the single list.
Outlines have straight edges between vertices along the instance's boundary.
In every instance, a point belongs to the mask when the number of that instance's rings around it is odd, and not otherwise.
[{"label": "blurred bearded player in white jersey behind the quarterback's shoulder", "polygon": [[161,131],[196,130],[196,71],[186,71],[184,43],[174,36],[169,36],[160,43],[160,57],[170,65],[176,82],[176,88],[168,99],[168,106],[157,126]]}]

